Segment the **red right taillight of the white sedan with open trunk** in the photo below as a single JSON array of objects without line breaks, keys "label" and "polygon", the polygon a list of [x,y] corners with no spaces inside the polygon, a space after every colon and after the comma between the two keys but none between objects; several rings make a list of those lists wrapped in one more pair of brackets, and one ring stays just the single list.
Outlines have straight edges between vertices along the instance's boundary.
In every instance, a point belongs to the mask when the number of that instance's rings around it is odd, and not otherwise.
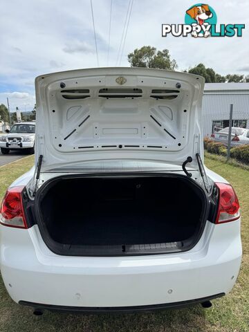
[{"label": "red right taillight of the white sedan with open trunk", "polygon": [[219,190],[219,207],[215,223],[239,219],[239,201],[232,185],[215,183]]}]

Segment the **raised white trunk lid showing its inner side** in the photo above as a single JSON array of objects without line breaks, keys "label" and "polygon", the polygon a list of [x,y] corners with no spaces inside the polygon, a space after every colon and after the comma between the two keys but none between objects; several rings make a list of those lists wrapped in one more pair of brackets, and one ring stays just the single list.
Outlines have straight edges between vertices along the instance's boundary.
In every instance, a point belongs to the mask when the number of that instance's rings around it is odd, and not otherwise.
[{"label": "raised white trunk lid showing its inner side", "polygon": [[[182,165],[203,155],[203,77],[147,68],[92,68],[36,78],[41,172],[97,160]],[[82,164],[83,165],[83,164]]]}]

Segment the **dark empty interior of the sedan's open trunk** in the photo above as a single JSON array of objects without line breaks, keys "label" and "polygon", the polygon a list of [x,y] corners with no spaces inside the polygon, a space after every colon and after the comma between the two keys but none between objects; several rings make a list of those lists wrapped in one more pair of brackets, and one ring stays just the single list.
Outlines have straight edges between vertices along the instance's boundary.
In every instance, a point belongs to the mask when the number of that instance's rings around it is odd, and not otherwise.
[{"label": "dark empty interior of the sedan's open trunk", "polygon": [[183,241],[196,231],[201,206],[196,192],[172,178],[70,179],[42,200],[54,241],[93,246]]}]

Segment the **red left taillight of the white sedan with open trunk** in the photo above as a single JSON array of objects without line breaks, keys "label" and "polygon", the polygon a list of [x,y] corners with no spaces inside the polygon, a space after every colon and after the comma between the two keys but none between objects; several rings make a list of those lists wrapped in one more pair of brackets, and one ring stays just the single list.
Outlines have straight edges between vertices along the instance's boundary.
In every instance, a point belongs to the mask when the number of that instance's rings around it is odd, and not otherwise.
[{"label": "red left taillight of the white sedan with open trunk", "polygon": [[28,228],[21,193],[24,187],[12,187],[3,198],[0,211],[0,223],[9,227]]}]

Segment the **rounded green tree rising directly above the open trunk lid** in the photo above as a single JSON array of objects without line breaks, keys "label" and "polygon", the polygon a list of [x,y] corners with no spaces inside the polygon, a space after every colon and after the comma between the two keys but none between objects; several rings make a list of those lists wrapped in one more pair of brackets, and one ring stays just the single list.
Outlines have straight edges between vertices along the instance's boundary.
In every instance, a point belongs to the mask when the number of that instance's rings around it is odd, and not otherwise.
[{"label": "rounded green tree rising directly above the open trunk lid", "polygon": [[177,68],[176,60],[171,59],[169,50],[156,50],[155,47],[142,46],[128,54],[131,67],[145,67],[168,69],[174,71]]}]

